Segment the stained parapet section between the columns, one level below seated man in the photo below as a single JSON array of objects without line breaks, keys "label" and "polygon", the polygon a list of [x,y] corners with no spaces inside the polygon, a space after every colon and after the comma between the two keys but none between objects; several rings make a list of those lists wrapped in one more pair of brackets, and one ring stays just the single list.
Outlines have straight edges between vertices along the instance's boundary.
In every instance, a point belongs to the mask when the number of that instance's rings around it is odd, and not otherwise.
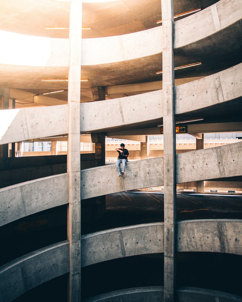
[{"label": "stained parapet section between the columns, one level below seated man", "polygon": [[81,236],[81,265],[164,252],[164,222],[125,226]]}]

